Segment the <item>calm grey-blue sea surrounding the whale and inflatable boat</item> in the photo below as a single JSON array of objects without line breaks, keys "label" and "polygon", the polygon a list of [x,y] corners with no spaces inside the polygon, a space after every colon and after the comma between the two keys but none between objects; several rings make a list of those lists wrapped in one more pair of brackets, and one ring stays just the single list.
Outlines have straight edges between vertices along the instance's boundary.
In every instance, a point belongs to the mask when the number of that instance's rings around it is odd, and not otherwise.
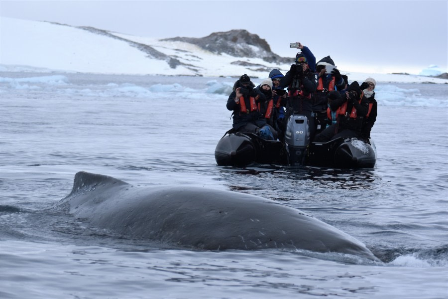
[{"label": "calm grey-blue sea surrounding the whale and inflatable boat", "polygon": [[[233,82],[0,72],[0,298],[448,298],[448,85],[379,83],[377,164],[337,170],[217,166]],[[281,201],[382,262],[166,250],[46,210],[81,170]]]}]

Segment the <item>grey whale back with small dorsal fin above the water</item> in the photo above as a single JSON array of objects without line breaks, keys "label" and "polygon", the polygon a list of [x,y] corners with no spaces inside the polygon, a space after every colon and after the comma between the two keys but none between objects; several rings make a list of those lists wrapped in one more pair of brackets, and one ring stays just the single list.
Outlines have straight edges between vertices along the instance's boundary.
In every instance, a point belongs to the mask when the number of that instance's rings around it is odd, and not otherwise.
[{"label": "grey whale back with small dorsal fin above the water", "polygon": [[377,260],[366,246],[300,210],[263,197],[189,186],[133,186],[78,172],[56,208],[113,232],[202,250],[336,252]]}]

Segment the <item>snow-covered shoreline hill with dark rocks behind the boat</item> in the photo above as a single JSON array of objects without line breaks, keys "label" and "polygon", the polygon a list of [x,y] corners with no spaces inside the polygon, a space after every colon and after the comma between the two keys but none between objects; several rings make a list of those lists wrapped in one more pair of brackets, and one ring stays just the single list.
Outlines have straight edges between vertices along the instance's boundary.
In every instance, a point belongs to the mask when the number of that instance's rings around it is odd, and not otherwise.
[{"label": "snow-covered shoreline hill with dark rocks behind the boat", "polygon": [[[0,71],[265,78],[273,68],[289,70],[293,57],[272,53],[267,42],[246,30],[204,38],[154,39],[93,27],[1,17]],[[403,74],[354,73],[349,80],[447,83],[446,79]]]}]

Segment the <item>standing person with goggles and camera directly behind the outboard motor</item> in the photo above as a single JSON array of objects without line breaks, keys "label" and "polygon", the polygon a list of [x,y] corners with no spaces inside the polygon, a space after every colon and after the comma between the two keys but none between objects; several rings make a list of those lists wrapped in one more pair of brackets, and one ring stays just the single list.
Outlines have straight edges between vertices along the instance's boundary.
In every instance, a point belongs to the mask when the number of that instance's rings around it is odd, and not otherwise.
[{"label": "standing person with goggles and camera directly behind the outboard motor", "polygon": [[282,86],[288,86],[288,96],[282,100],[282,106],[286,107],[285,122],[292,114],[305,115],[309,122],[310,138],[313,139],[315,126],[311,95],[316,91],[317,80],[316,74],[308,65],[307,57],[301,52],[297,53],[295,64],[291,65],[280,80],[280,87]]}]

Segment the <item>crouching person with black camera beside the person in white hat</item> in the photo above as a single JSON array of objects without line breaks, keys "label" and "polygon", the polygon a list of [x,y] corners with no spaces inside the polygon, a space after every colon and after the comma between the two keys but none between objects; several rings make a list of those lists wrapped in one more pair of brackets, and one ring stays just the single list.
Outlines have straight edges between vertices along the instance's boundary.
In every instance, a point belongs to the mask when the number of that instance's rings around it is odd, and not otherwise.
[{"label": "crouching person with black camera beside the person in white hat", "polygon": [[337,114],[336,124],[316,135],[315,142],[329,142],[339,137],[362,139],[362,121],[368,112],[368,100],[359,83],[354,81],[340,98],[331,101],[329,109]]}]

